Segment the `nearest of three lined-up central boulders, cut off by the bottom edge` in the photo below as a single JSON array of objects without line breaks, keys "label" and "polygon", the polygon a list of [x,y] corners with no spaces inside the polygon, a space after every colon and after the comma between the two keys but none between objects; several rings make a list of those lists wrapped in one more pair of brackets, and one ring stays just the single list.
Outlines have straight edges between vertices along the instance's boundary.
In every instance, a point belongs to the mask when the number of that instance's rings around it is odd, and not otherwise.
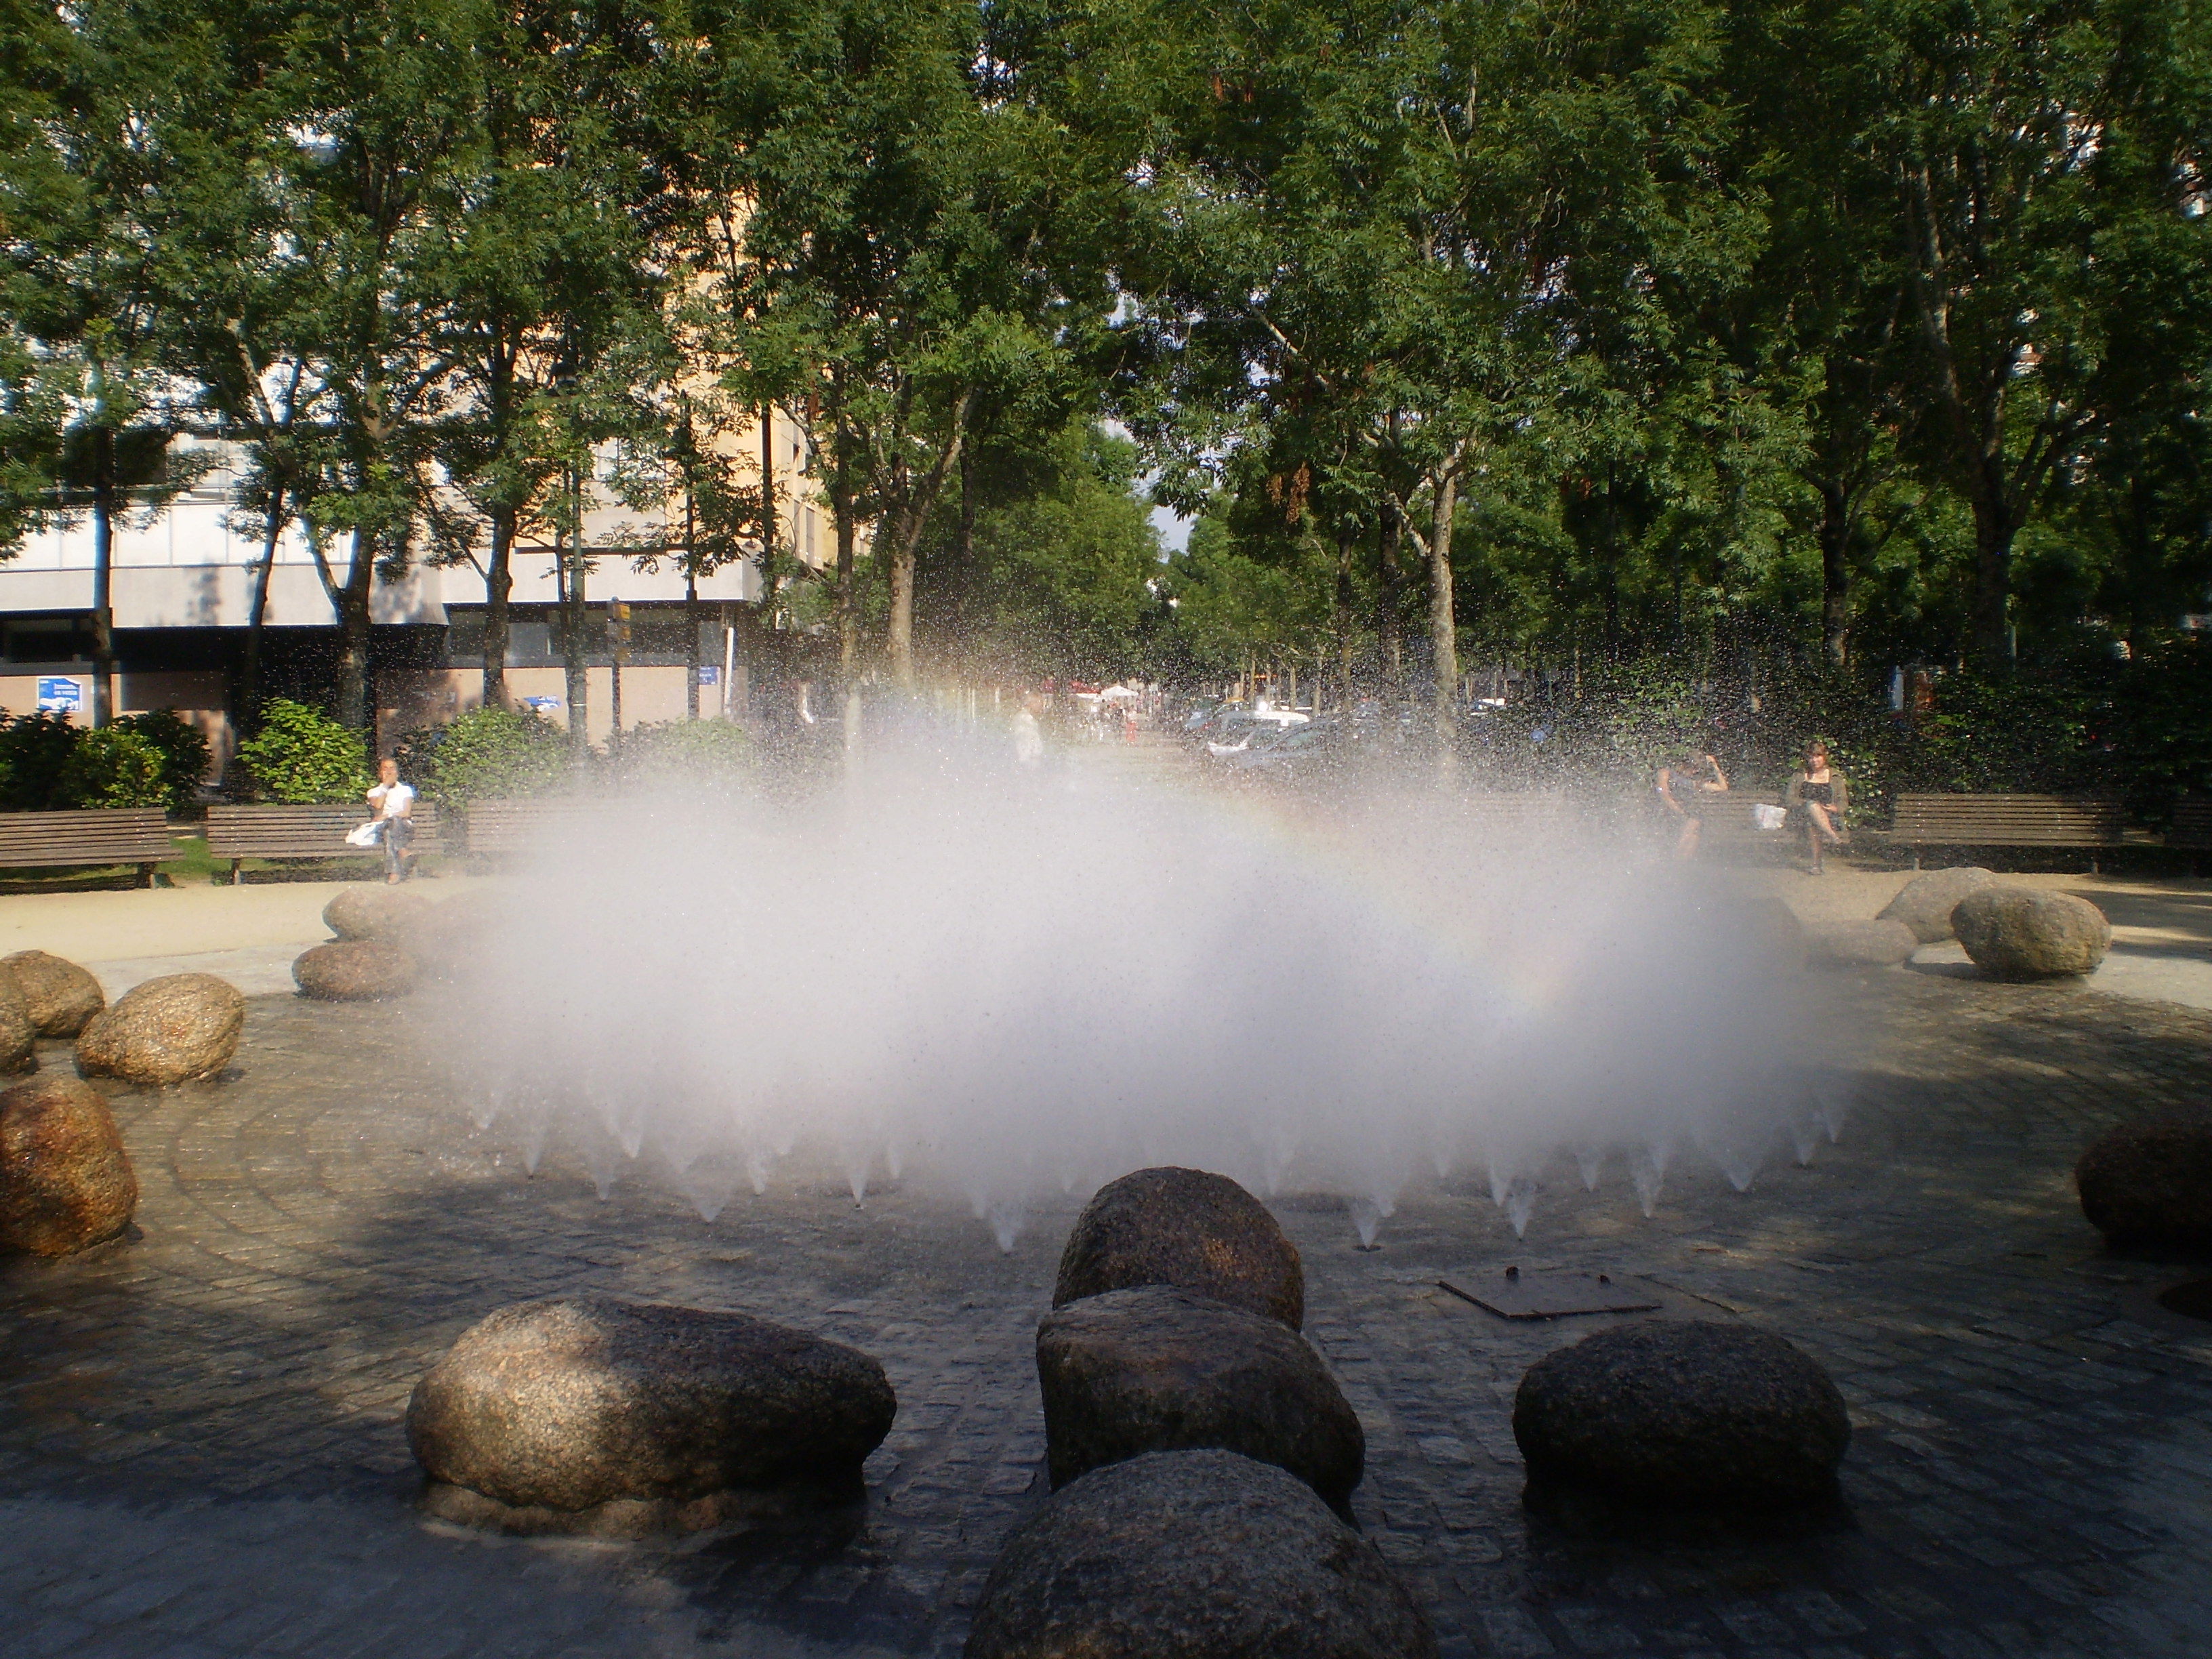
[{"label": "nearest of three lined-up central boulders, cut off by the bottom edge", "polygon": [[1053,1493],[991,1568],[967,1659],[1431,1659],[1427,1615],[1305,1484],[1152,1451]]}]

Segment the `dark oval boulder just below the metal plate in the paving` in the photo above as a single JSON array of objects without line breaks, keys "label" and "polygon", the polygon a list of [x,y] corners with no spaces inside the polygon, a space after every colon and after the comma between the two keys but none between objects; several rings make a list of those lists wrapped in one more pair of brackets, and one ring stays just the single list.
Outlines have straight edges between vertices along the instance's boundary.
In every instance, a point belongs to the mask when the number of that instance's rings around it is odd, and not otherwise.
[{"label": "dark oval boulder just below the metal plate in the paving", "polygon": [[1528,1367],[1513,1438],[1533,1486],[1765,1509],[1834,1498],[1851,1420],[1827,1371],[1781,1336],[1646,1321]]}]

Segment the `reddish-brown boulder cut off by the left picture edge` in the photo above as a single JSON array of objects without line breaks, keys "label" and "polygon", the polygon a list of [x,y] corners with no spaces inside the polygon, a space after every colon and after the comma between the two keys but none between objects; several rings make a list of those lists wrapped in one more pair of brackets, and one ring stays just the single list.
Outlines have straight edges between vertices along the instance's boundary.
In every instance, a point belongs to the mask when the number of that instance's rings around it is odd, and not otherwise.
[{"label": "reddish-brown boulder cut off by the left picture edge", "polygon": [[119,1237],[137,1177],[108,1102],[75,1077],[0,1093],[0,1250],[66,1256]]}]

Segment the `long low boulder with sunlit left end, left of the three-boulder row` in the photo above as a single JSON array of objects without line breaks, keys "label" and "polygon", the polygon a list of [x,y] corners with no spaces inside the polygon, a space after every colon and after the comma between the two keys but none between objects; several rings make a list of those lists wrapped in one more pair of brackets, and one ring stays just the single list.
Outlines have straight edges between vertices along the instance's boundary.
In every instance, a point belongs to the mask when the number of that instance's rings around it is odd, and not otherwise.
[{"label": "long low boulder with sunlit left end, left of the three-boulder row", "polygon": [[876,1360],[810,1332],[553,1296],[467,1329],[416,1385],[407,1440],[453,1520],[681,1528],[745,1495],[858,1493],[896,1411]]}]

